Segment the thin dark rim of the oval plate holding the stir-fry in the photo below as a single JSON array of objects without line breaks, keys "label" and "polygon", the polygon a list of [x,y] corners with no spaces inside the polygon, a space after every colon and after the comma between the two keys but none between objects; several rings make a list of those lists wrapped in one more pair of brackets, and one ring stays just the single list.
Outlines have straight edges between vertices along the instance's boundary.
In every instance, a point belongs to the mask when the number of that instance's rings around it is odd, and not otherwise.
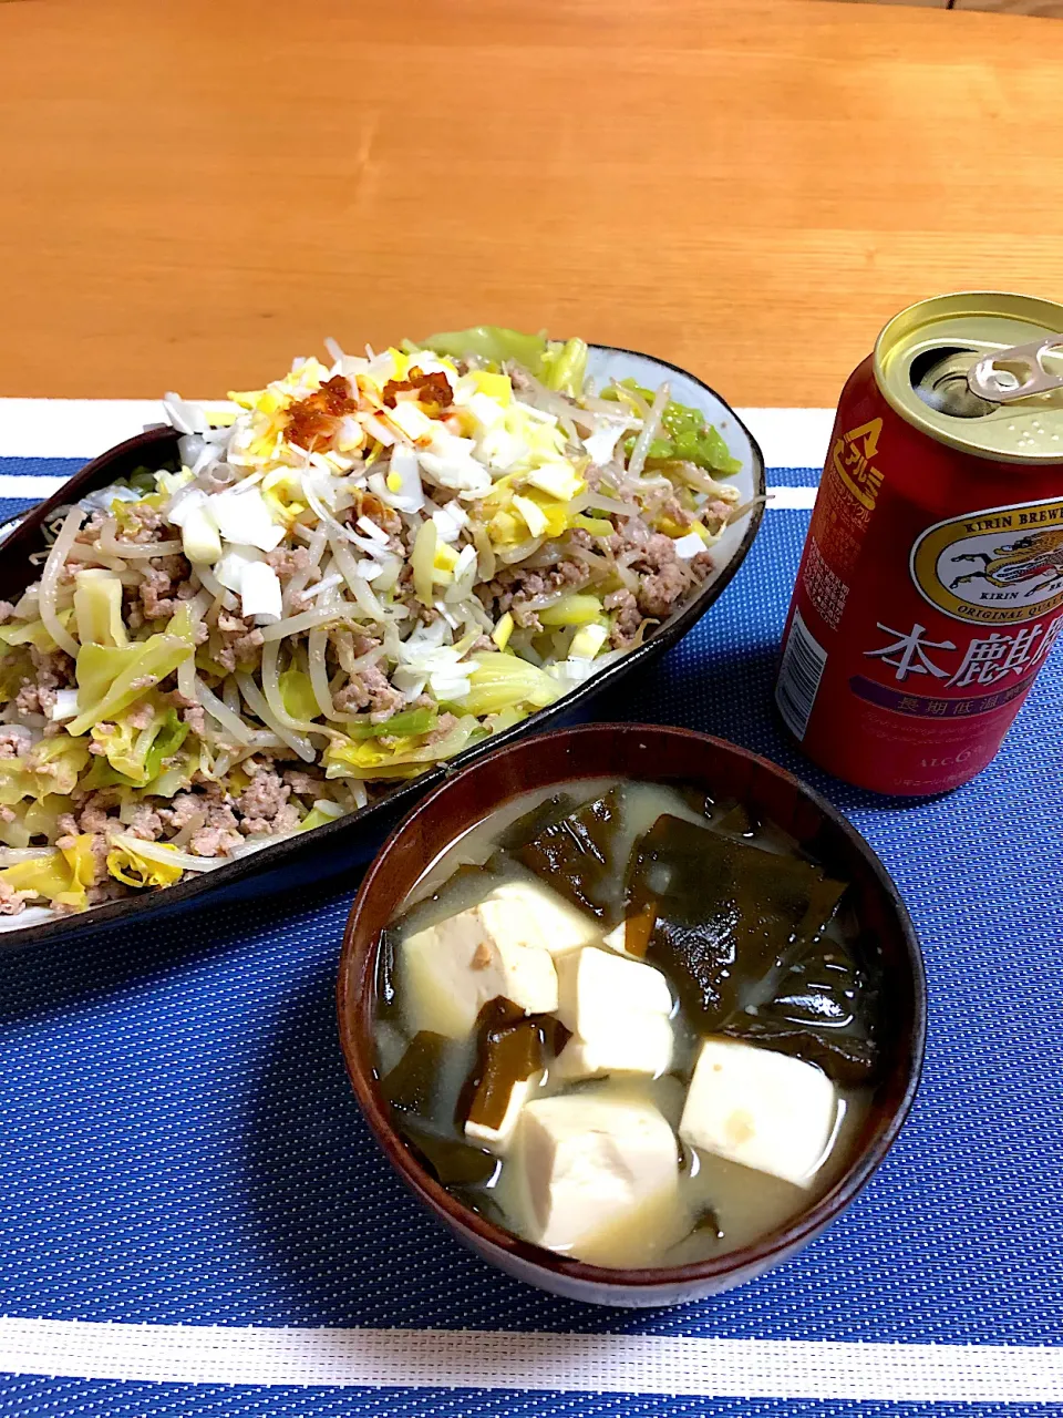
[{"label": "thin dark rim of the oval plate holding the stir-fry", "polygon": [[[591,675],[590,679],[585,679],[575,689],[570,691],[567,695],[561,695],[561,698],[553,705],[547,705],[544,709],[537,709],[520,723],[505,729],[502,733],[495,735],[490,739],[485,739],[468,749],[462,749],[462,752],[448,763],[437,764],[425,773],[418,774],[415,778],[400,781],[381,797],[367,803],[366,807],[359,808],[354,813],[349,813],[346,817],[337,818],[333,822],[323,822],[320,827],[312,828],[306,834],[283,837],[266,847],[259,847],[247,856],[240,856],[235,861],[225,862],[224,866],[213,866],[198,876],[186,876],[184,881],[177,882],[174,886],[146,892],[142,896],[123,896],[118,900],[103,902],[102,905],[92,906],[89,910],[78,915],[61,916],[54,920],[43,920],[21,929],[6,929],[0,932],[0,951],[17,950],[23,946],[31,946],[48,940],[84,937],[101,927],[133,923],[142,920],[146,915],[173,910],[186,903],[198,900],[200,896],[207,896],[215,888],[224,889],[242,878],[268,872],[271,866],[276,866],[289,856],[296,855],[310,842],[334,842],[340,837],[363,828],[374,817],[374,814],[383,817],[386,813],[394,813],[400,807],[405,807],[408,803],[415,801],[434,787],[441,786],[454,773],[478,763],[488,753],[493,753],[497,749],[503,749],[507,744],[526,737],[529,733],[534,733],[537,729],[544,727],[560,715],[571,713],[577,706],[615,685],[639,665],[665,654],[665,651],[670,649],[679,640],[682,640],[682,637],[723,594],[731,579],[738,571],[738,567],[746,560],[760,530],[760,525],[764,518],[767,492],[764,454],[757,440],[727,400],[717,394],[714,389],[706,384],[704,380],[699,379],[696,374],[692,374],[689,370],[682,369],[682,366],[673,364],[669,360],[659,359],[656,354],[646,354],[642,350],[629,350],[619,345],[592,345],[591,347],[605,350],[612,354],[632,354],[638,359],[648,359],[652,363],[659,364],[662,369],[669,369],[676,374],[682,374],[685,379],[693,380],[707,394],[717,400],[726,411],[724,417],[733,418],[748,440],[753,461],[753,489],[757,501],[750,509],[748,525],[743,533],[741,542],[726,566],[721,567],[720,574],[699,596],[693,597],[686,605],[682,607],[682,610],[676,611],[673,617],[659,625],[655,631],[651,631],[645,641],[622,659],[615,661],[598,674]],[[81,496],[84,488],[98,482],[103,486],[105,484],[101,481],[99,475],[111,468],[113,462],[132,459],[133,455],[142,451],[147,452],[167,442],[176,444],[179,437],[180,435],[176,430],[166,424],[160,424],[153,428],[147,428],[140,434],[135,434],[132,438],[126,438],[120,444],[115,444],[113,448],[105,450],[105,452],[99,454],[84,468],[75,472],[74,476],[69,478],[55,493],[52,493],[51,498],[27,512],[23,518],[23,523],[20,523],[9,535],[9,537],[4,539],[4,543],[0,543],[0,550],[4,550],[6,547],[10,549],[11,542],[20,542],[23,539],[28,540],[35,535],[41,520],[44,520],[55,508],[61,508],[68,503],[72,495]]]}]

